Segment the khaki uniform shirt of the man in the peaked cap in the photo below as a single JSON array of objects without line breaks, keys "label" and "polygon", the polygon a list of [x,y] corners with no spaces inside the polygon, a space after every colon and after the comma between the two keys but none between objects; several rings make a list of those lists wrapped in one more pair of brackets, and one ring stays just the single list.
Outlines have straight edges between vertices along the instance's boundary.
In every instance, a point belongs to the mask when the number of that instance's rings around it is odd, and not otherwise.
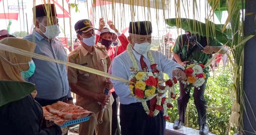
[{"label": "khaki uniform shirt of the man in the peaked cap", "polygon": [[[93,46],[92,54],[89,53],[82,45],[78,46],[73,52],[68,55],[68,62],[84,65],[96,70],[107,72],[111,60],[108,57],[105,46]],[[93,73],[89,73],[83,70],[79,70],[73,67],[68,67],[68,81],[69,83],[77,83],[84,89],[95,93],[104,93],[106,77],[98,76]],[[109,105],[113,104],[114,98],[111,95]],[[83,107],[86,110],[94,113],[101,110],[101,106],[97,101],[92,98],[82,97],[76,95],[76,105]],[[108,106],[109,106],[108,105]]]}]

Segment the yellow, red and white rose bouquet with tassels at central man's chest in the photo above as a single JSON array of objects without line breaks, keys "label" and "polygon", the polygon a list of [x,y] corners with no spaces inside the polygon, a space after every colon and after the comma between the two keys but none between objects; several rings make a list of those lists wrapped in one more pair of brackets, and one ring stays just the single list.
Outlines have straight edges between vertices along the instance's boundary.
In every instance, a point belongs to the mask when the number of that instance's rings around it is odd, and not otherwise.
[{"label": "yellow, red and white rose bouquet with tassels at central man's chest", "polygon": [[[152,72],[134,71],[130,76],[129,88],[133,97],[139,98],[142,101],[142,106],[148,116],[157,116],[159,111],[164,110],[164,119],[170,120],[167,115],[167,107],[171,108],[171,99],[176,98],[174,84],[177,83],[177,78],[169,79],[165,82],[166,86],[159,85],[159,70],[157,64],[151,65]],[[163,81],[161,81],[163,82]],[[168,91],[168,101],[162,98],[162,95]],[[150,109],[146,100],[155,100],[155,104],[150,103]]]}]

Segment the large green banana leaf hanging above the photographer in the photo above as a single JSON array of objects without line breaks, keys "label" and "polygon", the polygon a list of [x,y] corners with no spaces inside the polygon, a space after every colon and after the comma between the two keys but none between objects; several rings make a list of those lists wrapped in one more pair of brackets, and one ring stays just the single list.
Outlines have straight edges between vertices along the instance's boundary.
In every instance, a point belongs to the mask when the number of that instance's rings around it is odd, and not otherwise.
[{"label": "large green banana leaf hanging above the photographer", "polygon": [[[207,23],[203,23],[193,19],[187,18],[170,18],[165,20],[166,24],[169,26],[176,26],[185,31],[190,31],[191,33],[198,33],[201,36],[208,38],[215,38],[218,42],[230,46],[232,38],[226,33],[222,32],[223,25],[214,24],[213,22],[207,20]],[[227,29],[226,32],[229,30]]]}]

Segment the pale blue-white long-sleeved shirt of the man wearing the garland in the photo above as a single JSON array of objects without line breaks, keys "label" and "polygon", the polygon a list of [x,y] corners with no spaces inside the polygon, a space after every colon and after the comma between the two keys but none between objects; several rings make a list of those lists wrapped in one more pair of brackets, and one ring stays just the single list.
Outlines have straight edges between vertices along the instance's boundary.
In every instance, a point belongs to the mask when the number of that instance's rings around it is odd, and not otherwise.
[{"label": "pale blue-white long-sleeved shirt of the man wearing the garland", "polygon": [[[139,69],[141,70],[141,65],[140,65],[141,54],[139,54],[133,49],[132,51],[137,60]],[[158,51],[153,51],[153,50],[151,50],[151,53],[153,58],[155,59],[155,63],[158,64],[157,69],[160,72],[162,71],[164,73],[167,73],[170,78],[172,78],[173,76],[172,73],[174,68],[180,67],[183,69],[183,67],[180,66],[180,64],[176,63],[171,59],[166,58],[162,53]],[[147,64],[149,71],[151,71],[151,68],[150,68],[151,64],[147,54],[143,54],[143,60]],[[133,67],[133,64],[128,52],[125,51],[114,58],[112,62],[112,74],[114,76],[118,76],[123,79],[129,80],[133,72],[133,71],[130,71],[130,67]],[[163,76],[161,76],[161,78],[163,78]],[[131,104],[131,103],[141,102],[138,98],[131,96],[129,84],[126,84],[126,82],[117,81],[114,79],[112,79],[112,82],[113,82],[116,94],[120,97],[121,104]]]}]

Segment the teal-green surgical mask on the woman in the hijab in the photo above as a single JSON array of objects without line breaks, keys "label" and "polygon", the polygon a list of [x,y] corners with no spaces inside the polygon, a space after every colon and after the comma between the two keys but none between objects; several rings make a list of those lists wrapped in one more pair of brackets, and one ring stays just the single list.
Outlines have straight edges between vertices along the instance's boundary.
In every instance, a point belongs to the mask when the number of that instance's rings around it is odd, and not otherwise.
[{"label": "teal-green surgical mask on the woman in the hijab", "polygon": [[[0,54],[0,56],[2,56],[1,54]],[[11,63],[10,61],[8,61],[4,56],[2,56],[2,58],[5,60],[5,61],[7,61],[8,63],[10,63],[12,66],[14,66],[15,68],[17,68],[18,70],[20,70],[21,72],[20,72],[20,75],[21,75],[21,77],[23,78],[23,79],[27,79],[27,78],[29,78],[29,77],[31,77],[33,74],[34,74],[34,72],[35,72],[35,69],[36,69],[36,65],[35,65],[35,63],[34,63],[34,61],[33,60],[31,60],[31,61],[29,61],[28,63]],[[27,70],[27,71],[23,71],[22,69],[20,69],[20,68],[18,68],[18,67],[16,67],[15,65],[18,65],[18,64],[29,64],[29,69]]]}]

